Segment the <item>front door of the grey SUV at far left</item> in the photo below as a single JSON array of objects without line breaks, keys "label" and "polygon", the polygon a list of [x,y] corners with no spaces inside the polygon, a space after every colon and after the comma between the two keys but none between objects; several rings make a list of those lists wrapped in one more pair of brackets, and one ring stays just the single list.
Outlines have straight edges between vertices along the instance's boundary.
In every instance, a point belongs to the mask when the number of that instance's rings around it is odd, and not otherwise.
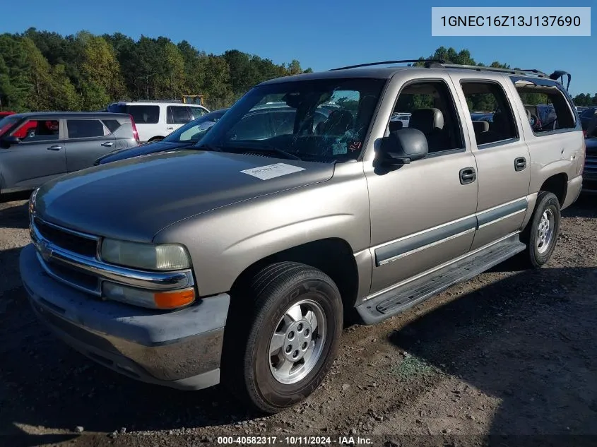
[{"label": "front door of the grey SUV at far left", "polygon": [[11,136],[20,136],[23,129],[28,130],[20,143],[0,149],[3,192],[35,189],[66,174],[63,128],[60,119],[32,118],[11,132]]}]

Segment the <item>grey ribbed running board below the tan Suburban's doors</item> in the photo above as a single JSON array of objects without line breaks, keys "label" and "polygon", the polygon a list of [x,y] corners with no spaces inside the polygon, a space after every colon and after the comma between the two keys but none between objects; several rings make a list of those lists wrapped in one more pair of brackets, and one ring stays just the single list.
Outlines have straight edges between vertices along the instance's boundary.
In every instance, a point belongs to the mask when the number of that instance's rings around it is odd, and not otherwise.
[{"label": "grey ribbed running board below the tan Suburban's doors", "polygon": [[356,309],[365,324],[379,323],[443,292],[458,282],[474,278],[524,249],[526,245],[520,242],[516,234],[504,242],[492,245],[429,275],[367,299]]}]

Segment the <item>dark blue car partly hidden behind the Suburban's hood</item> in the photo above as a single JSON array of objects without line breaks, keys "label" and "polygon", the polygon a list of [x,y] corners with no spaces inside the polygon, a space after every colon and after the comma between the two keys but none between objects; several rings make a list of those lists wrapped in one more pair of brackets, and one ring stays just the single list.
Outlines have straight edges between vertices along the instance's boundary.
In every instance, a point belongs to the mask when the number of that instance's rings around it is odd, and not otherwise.
[{"label": "dark blue car partly hidden behind the Suburban's hood", "polygon": [[113,150],[95,160],[94,165],[105,165],[106,163],[126,160],[127,158],[138,157],[140,155],[150,155],[169,150],[189,148],[189,146],[196,144],[201,137],[205,135],[206,131],[213,126],[218,119],[223,117],[226,111],[227,109],[214,110],[202,117],[194,119],[190,123],[180,127],[178,130],[170,133],[170,135],[162,141],[144,143],[134,148]]}]

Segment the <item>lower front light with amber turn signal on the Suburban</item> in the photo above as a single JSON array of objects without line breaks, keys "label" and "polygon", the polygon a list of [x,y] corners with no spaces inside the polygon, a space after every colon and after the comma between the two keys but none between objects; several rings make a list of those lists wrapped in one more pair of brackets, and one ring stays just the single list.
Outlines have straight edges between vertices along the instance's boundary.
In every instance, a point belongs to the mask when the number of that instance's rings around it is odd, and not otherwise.
[{"label": "lower front light with amber turn signal on the Suburban", "polygon": [[195,301],[195,290],[193,287],[182,290],[155,292],[155,290],[137,289],[105,281],[102,292],[103,296],[107,299],[133,304],[134,306],[148,307],[150,309],[177,309]]}]

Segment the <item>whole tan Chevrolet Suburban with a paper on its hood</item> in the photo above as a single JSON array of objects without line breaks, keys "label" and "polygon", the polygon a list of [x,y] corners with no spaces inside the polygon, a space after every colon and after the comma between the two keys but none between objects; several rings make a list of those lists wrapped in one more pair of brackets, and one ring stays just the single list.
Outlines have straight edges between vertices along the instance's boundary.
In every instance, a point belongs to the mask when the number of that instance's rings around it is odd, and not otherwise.
[{"label": "whole tan Chevrolet Suburban with a paper on its hood", "polygon": [[[545,264],[584,165],[562,83],[367,65],[261,83],[188,150],[41,186],[20,254],[35,313],[114,371],[222,382],[273,413],[319,386],[348,316],[377,323],[512,256]],[[537,95],[556,117],[533,129]],[[471,120],[480,101],[491,122]],[[292,113],[243,119],[280,102]]]}]

